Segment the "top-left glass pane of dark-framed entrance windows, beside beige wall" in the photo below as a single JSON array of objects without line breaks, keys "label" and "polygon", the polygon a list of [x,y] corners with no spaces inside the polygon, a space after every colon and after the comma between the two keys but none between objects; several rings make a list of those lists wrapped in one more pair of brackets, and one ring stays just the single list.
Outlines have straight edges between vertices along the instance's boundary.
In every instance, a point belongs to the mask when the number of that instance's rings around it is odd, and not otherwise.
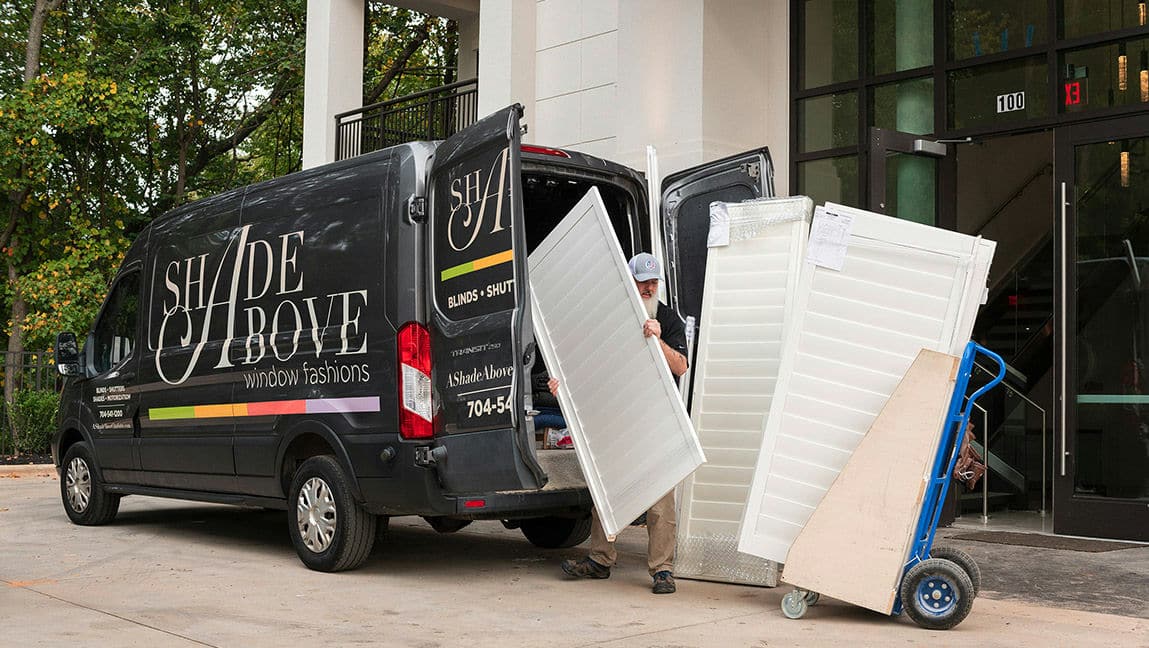
[{"label": "top-left glass pane of dark-framed entrance windows, beside beige wall", "polygon": [[805,0],[802,87],[858,78],[857,0]]}]

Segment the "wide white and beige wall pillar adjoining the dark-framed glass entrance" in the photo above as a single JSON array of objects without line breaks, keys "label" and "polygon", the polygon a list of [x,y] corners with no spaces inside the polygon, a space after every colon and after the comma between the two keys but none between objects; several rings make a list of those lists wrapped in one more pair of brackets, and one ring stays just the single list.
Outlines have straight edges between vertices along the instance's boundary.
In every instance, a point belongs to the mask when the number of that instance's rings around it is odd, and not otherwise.
[{"label": "wide white and beige wall pillar adjoining the dark-framed glass entrance", "polygon": [[769,146],[787,193],[788,3],[625,0],[618,6],[617,160],[663,176]]}]

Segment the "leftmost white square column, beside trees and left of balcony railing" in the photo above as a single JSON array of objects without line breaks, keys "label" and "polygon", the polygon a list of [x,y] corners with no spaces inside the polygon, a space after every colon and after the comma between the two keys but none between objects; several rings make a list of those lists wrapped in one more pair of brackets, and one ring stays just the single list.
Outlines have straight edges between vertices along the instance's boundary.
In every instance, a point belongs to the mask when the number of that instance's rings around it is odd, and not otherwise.
[{"label": "leftmost white square column, beside trees and left of balcony railing", "polygon": [[363,105],[363,2],[307,2],[304,169],[336,159],[334,115]]}]

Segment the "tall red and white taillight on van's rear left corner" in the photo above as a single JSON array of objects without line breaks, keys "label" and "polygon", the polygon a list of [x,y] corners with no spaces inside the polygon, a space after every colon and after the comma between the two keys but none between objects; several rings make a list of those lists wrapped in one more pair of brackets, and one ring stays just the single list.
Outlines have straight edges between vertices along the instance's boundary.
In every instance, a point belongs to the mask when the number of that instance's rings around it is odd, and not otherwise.
[{"label": "tall red and white taillight on van's rear left corner", "polygon": [[418,322],[399,329],[399,434],[426,439],[434,434],[431,402],[431,334]]}]

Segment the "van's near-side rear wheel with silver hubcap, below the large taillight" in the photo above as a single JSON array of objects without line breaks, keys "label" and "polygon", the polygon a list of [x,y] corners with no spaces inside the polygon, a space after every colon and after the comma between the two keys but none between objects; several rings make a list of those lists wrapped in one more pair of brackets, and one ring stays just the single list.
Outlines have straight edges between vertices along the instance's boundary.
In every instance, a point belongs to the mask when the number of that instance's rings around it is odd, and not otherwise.
[{"label": "van's near-side rear wheel with silver hubcap, below the large taillight", "polygon": [[355,569],[375,545],[376,516],[355,501],[336,457],[303,462],[292,478],[287,532],[299,560],[316,571]]}]

